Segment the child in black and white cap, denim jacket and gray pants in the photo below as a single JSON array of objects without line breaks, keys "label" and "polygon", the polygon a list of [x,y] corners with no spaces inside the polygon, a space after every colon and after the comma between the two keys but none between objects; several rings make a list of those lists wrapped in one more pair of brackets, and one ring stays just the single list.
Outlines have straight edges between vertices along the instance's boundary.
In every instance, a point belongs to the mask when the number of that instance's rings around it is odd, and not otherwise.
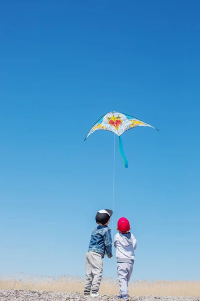
[{"label": "child in black and white cap, denim jacket and gray pants", "polygon": [[103,209],[98,211],[95,217],[98,226],[91,233],[89,248],[85,258],[85,296],[98,296],[103,270],[102,258],[105,254],[108,258],[112,257],[112,239],[110,229],[107,227],[111,216],[111,210]]}]

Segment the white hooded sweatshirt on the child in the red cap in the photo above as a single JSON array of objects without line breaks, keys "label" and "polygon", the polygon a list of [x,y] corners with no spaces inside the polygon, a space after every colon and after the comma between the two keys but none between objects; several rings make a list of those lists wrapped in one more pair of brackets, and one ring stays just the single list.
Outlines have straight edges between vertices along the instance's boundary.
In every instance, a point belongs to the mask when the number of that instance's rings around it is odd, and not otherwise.
[{"label": "white hooded sweatshirt on the child in the red cap", "polygon": [[131,233],[117,233],[114,236],[114,247],[116,248],[117,262],[134,262],[136,239]]}]

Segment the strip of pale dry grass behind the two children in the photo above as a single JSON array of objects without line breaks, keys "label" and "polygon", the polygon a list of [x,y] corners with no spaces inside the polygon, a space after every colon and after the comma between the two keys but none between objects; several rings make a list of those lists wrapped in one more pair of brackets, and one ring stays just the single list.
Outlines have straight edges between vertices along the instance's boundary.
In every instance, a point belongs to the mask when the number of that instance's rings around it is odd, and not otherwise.
[{"label": "strip of pale dry grass behind the two children", "polygon": [[[0,289],[29,289],[50,291],[83,291],[83,279],[69,275],[54,277],[23,276],[1,277]],[[118,283],[104,278],[100,292],[118,293]],[[133,281],[129,284],[130,295],[200,296],[199,281]]]}]

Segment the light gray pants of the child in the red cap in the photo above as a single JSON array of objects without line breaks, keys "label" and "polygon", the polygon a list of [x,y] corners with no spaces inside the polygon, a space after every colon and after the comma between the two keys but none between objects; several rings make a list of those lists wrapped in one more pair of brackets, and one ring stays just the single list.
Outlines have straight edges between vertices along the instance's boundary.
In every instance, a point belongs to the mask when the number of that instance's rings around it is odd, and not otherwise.
[{"label": "light gray pants of the child in the red cap", "polygon": [[128,281],[130,280],[130,276],[132,274],[132,268],[133,268],[132,263],[127,263],[127,262],[117,263],[117,274],[118,274],[120,295],[124,295],[124,296],[128,295]]}]

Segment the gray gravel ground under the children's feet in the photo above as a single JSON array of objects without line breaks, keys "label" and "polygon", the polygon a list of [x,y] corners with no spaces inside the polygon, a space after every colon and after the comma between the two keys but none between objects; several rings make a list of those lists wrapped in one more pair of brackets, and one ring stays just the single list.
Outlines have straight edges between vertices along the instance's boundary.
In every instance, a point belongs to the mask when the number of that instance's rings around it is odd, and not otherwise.
[{"label": "gray gravel ground under the children's feet", "polygon": [[[41,290],[12,290],[1,289],[0,301],[118,301],[117,295],[100,294],[95,298],[87,298],[80,292],[56,292]],[[130,296],[129,301],[200,301],[199,297],[171,297],[171,296]]]}]

